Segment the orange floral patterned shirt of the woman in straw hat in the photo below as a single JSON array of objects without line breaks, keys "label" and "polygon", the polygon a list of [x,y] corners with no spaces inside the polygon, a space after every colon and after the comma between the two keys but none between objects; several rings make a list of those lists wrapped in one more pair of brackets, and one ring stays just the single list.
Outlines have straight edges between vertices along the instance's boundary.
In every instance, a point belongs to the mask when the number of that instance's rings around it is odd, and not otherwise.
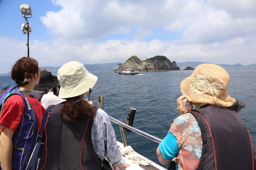
[{"label": "orange floral patterned shirt of the woman in straw hat", "polygon": [[178,169],[196,169],[202,152],[202,137],[199,124],[191,113],[180,115],[169,130],[177,139],[179,154],[173,160]]}]

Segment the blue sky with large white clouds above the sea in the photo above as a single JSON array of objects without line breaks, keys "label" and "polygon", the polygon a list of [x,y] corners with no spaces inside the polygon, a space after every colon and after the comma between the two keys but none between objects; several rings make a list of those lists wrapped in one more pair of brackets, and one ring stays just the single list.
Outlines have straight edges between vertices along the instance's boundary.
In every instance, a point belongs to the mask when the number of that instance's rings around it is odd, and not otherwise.
[{"label": "blue sky with large white clouds above the sea", "polygon": [[32,8],[30,56],[41,67],[124,62],[132,55],[256,63],[255,0],[0,0],[0,73],[26,56],[23,3]]}]

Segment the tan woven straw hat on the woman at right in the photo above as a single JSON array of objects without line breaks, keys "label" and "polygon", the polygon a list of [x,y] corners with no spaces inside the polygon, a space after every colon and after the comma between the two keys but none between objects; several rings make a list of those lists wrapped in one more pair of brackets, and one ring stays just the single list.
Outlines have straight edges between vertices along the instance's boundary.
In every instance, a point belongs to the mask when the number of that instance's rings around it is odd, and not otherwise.
[{"label": "tan woven straw hat on the woman at right", "polygon": [[215,64],[201,64],[180,83],[183,95],[193,103],[230,107],[235,99],[228,94],[229,73]]}]

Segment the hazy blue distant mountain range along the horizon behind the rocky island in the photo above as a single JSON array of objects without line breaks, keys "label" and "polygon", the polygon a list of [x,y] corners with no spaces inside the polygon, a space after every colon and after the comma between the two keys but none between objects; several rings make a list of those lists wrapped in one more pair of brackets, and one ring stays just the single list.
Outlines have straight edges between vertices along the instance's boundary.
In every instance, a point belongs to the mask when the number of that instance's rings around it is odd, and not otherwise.
[{"label": "hazy blue distant mountain range along the horizon behind the rocky island", "polygon": [[[192,67],[196,68],[197,65],[204,64],[205,62],[201,61],[186,61],[183,63],[176,63],[177,67],[180,67],[180,70],[183,70],[185,68]],[[119,65],[123,63],[105,63],[105,64],[85,64],[85,68],[88,69],[89,72],[114,72],[116,69],[119,68]],[[234,64],[234,65],[229,65],[229,64],[218,64],[223,68],[249,68],[249,67],[256,67],[255,64],[250,64],[250,65],[241,65],[241,64]],[[59,67],[43,67],[47,69],[47,71],[52,72],[53,74],[57,74]],[[0,75],[10,75],[11,73],[6,73],[6,74],[0,74]]]}]

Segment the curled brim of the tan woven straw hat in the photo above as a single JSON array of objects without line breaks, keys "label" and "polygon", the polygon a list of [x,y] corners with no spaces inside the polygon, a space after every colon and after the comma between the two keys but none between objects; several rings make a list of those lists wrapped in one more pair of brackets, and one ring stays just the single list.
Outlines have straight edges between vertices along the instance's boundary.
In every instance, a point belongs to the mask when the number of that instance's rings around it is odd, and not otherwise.
[{"label": "curled brim of the tan woven straw hat", "polygon": [[184,80],[180,82],[180,90],[181,93],[187,97],[188,101],[191,101],[192,103],[203,103],[222,107],[230,107],[234,105],[235,99],[233,97],[230,97],[227,91],[224,91],[221,94],[222,98],[212,96],[208,93],[191,93],[191,84],[192,76],[184,78]]}]

